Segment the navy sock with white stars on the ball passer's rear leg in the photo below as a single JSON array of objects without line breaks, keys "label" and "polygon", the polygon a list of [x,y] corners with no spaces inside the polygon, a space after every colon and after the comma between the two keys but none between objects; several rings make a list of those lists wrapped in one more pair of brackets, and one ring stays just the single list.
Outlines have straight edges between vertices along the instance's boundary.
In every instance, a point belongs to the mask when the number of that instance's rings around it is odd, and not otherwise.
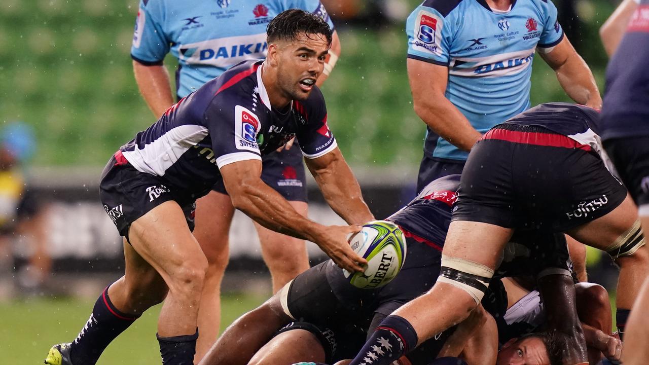
[{"label": "navy sock with white stars on the ball passer's rear leg", "polygon": [[108,288],[110,285],[95,302],[90,319],[72,343],[73,364],[94,365],[108,344],[139,318],[117,310],[108,297]]}]

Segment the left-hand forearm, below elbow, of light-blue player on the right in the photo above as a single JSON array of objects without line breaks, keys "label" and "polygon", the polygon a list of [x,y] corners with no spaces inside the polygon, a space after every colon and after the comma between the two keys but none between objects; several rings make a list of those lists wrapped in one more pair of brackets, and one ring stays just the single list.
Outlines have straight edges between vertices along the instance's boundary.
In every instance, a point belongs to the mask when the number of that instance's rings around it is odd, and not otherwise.
[{"label": "left-hand forearm, below elbow, of light-blue player on the right", "polygon": [[464,151],[471,151],[482,137],[469,120],[444,96],[415,98],[415,113],[442,138]]}]

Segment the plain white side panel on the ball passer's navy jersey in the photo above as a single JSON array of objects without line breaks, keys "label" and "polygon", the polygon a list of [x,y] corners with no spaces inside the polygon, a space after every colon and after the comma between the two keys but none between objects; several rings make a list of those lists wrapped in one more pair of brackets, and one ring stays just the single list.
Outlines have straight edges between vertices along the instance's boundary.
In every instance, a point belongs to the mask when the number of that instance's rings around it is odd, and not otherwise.
[{"label": "plain white side panel on the ball passer's navy jersey", "polygon": [[124,157],[138,171],[164,176],[165,171],[175,164],[180,156],[201,142],[208,135],[202,125],[188,124],[175,127],[139,149],[124,151]]}]

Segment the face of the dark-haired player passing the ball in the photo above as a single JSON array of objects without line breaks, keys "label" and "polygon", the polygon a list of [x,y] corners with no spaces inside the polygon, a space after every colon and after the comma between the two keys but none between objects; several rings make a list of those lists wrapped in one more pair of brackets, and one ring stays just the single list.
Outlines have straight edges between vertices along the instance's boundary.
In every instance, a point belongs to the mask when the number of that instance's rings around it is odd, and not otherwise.
[{"label": "face of the dark-haired player passing the ball", "polygon": [[323,34],[300,34],[278,47],[277,84],[289,99],[306,99],[324,69],[329,45]]}]

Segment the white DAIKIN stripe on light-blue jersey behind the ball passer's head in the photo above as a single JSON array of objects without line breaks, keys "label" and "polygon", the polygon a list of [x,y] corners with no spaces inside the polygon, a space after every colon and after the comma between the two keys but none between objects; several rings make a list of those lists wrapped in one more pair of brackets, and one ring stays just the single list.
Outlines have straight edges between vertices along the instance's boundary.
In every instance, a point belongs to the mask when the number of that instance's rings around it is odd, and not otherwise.
[{"label": "white DAIKIN stripe on light-blue jersey behind the ball passer's head", "polygon": [[188,64],[212,65],[229,68],[245,60],[258,60],[266,57],[266,33],[215,38],[201,42],[182,44],[178,57]]}]

